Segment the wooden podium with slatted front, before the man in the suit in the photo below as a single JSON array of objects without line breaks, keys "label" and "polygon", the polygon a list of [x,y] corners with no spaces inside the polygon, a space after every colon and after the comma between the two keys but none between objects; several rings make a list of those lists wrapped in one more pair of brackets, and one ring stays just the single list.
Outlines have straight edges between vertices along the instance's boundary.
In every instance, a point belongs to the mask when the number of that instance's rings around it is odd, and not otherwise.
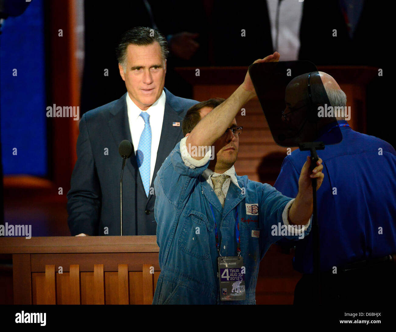
[{"label": "wooden podium with slatted front, before the man in the suit", "polygon": [[151,304],[158,251],[156,236],[0,239],[0,253],[12,254],[14,304]]}]

